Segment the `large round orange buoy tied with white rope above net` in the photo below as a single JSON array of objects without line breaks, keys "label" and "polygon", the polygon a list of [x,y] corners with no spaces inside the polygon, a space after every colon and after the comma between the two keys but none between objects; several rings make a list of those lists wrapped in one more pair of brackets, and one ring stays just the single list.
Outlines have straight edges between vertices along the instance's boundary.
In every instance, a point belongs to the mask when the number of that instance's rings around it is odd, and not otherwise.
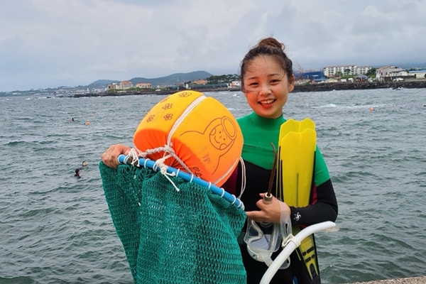
[{"label": "large round orange buoy tied with white rope above net", "polygon": [[185,170],[218,187],[239,163],[243,135],[219,101],[191,90],[158,102],[142,119],[133,143],[146,158]]}]

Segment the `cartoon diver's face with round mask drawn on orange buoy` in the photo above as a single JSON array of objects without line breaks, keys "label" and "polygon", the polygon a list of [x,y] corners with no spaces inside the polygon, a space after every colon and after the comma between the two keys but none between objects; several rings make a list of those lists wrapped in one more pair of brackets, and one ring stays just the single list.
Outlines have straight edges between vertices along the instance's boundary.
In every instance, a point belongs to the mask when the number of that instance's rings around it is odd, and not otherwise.
[{"label": "cartoon diver's face with round mask drawn on orange buoy", "polygon": [[215,119],[210,125],[213,129],[209,132],[209,140],[214,148],[223,151],[232,146],[236,138],[236,126],[229,117]]}]

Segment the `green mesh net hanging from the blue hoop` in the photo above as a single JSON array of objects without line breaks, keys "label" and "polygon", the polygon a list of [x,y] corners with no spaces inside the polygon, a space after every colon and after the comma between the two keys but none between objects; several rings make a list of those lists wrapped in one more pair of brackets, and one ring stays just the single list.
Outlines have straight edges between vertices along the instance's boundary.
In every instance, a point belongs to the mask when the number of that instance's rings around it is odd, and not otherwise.
[{"label": "green mesh net hanging from the blue hoop", "polygon": [[207,187],[148,168],[99,164],[105,198],[133,280],[246,283],[237,236],[246,214]]}]

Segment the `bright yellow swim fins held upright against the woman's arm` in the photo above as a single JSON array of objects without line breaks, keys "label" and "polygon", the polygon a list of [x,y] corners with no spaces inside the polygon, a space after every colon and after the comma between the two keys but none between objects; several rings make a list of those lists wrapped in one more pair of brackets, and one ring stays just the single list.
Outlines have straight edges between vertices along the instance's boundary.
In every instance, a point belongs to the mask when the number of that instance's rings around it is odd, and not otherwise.
[{"label": "bright yellow swim fins held upright against the woman's arm", "polygon": [[[292,207],[310,204],[315,168],[317,133],[310,119],[288,119],[280,128],[278,143],[277,196]],[[293,235],[302,228],[293,226]],[[320,274],[314,236],[309,236],[297,248],[297,256],[305,263],[311,280]]]}]

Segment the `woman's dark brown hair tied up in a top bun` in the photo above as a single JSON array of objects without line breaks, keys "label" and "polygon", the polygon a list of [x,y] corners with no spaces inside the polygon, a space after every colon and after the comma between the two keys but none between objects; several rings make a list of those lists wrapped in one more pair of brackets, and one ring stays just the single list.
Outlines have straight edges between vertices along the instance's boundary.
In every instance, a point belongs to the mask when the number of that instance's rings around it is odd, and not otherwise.
[{"label": "woman's dark brown hair tied up in a top bun", "polygon": [[288,80],[293,80],[293,62],[284,52],[285,45],[278,42],[275,38],[263,38],[258,45],[251,48],[244,56],[240,65],[241,90],[244,91],[244,75],[246,75],[247,65],[251,60],[254,60],[261,55],[269,55],[283,68]]}]

